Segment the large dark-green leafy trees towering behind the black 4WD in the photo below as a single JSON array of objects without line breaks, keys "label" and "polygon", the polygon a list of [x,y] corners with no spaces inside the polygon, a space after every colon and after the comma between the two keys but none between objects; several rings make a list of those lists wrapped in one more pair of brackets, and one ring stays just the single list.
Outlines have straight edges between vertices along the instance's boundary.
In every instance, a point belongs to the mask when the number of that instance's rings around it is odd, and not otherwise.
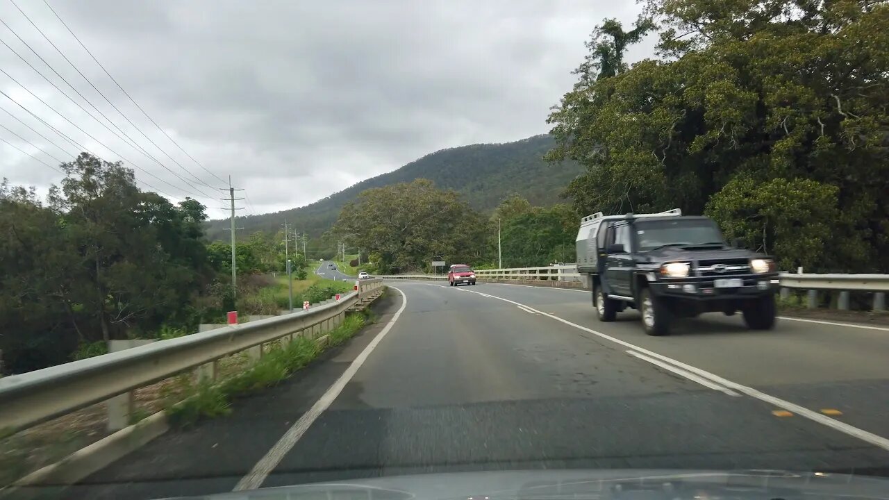
[{"label": "large dark-green leafy trees towering behind the black 4WD", "polygon": [[[606,20],[549,117],[582,213],[681,207],[785,269],[889,270],[889,5],[651,0]],[[660,25],[664,59],[627,68]]]}]

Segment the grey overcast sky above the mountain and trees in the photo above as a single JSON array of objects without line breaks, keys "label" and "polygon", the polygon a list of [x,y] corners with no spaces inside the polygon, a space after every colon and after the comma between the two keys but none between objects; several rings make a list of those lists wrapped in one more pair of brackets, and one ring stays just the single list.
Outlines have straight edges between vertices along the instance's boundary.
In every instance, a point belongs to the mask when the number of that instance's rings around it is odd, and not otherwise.
[{"label": "grey overcast sky above the mountain and trees", "polygon": [[[4,141],[52,166],[85,147],[136,168],[145,190],[200,199],[213,218],[225,214],[212,197],[227,194],[213,174],[245,189],[241,214],[259,214],[306,205],[437,149],[545,133],[592,28],[606,17],[629,25],[640,11],[630,0],[48,2],[206,170],[43,0],[0,0],[8,25],[0,40],[72,98],[0,44],[8,73],[0,89],[67,136],[0,95],[0,109],[34,128],[0,112],[9,129],[0,127],[0,177],[41,192],[61,177]],[[628,59],[652,47],[646,40]]]}]

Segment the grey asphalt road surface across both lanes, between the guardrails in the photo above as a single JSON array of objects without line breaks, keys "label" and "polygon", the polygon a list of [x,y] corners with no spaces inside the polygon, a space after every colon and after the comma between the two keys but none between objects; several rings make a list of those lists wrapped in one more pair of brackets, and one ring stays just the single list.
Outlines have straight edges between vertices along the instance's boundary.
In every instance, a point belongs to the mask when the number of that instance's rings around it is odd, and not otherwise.
[{"label": "grey asphalt road surface across both lanes, between the guardrails", "polygon": [[344,347],[68,497],[544,468],[889,475],[885,327],[780,319],[753,332],[711,314],[650,337],[635,311],[598,322],[583,291],[391,285],[403,294]]}]

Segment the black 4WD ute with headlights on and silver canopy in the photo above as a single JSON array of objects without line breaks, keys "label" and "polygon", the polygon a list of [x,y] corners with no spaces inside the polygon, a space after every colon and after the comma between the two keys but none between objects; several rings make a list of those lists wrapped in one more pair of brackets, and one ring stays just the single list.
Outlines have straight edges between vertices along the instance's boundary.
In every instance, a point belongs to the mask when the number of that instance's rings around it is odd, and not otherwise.
[{"label": "black 4WD ute with headlights on and silver canopy", "polygon": [[740,310],[750,328],[774,326],[773,259],[727,245],[707,217],[679,209],[589,215],[577,235],[577,268],[591,281],[599,320],[631,307],[648,335],[669,335],[671,319],[701,312]]}]

